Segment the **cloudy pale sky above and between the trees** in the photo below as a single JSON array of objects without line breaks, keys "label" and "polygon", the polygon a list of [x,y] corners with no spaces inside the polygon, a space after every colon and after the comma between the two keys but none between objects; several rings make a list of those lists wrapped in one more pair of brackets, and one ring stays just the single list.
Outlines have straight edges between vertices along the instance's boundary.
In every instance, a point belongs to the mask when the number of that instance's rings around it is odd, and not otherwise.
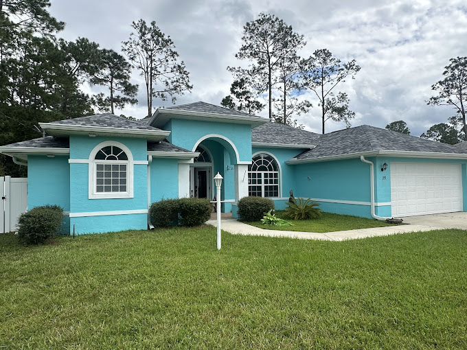
[{"label": "cloudy pale sky above and between the trees", "polygon": [[[229,93],[232,77],[227,66],[236,60],[247,21],[260,12],[275,14],[304,34],[307,45],[300,52],[308,57],[327,48],[341,60],[355,59],[361,71],[340,91],[350,97],[356,113],[352,126],[369,124],[384,128],[403,119],[411,134],[419,136],[431,125],[446,122],[455,113],[448,107],[431,107],[431,84],[442,79],[449,58],[467,56],[467,3],[461,0],[52,0],[50,12],[67,26],[59,35],[67,40],[87,37],[101,47],[121,52],[132,21],[156,21],[170,35],[190,72],[192,93],[177,104],[205,101],[220,104]],[[124,113],[146,115],[144,81],[137,71],[139,104]],[[84,87],[89,89],[89,87]],[[314,105],[297,119],[306,130],[320,132],[319,108],[312,95],[303,95]],[[169,102],[154,101],[154,106]],[[260,115],[266,116],[264,110]],[[345,128],[328,121],[326,132]]]}]

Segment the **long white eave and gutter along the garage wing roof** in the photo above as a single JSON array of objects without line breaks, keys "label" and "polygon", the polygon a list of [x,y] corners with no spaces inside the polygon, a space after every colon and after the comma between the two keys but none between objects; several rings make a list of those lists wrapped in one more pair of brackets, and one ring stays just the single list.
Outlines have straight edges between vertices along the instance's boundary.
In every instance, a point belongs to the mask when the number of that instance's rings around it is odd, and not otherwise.
[{"label": "long white eave and gutter along the garage wing roof", "polygon": [[443,152],[414,152],[378,150],[368,152],[357,152],[350,154],[338,154],[336,156],[322,156],[312,159],[296,159],[295,157],[286,161],[288,165],[317,163],[322,161],[339,161],[341,159],[358,158],[359,156],[398,156],[401,158],[433,158],[433,159],[466,159],[467,153],[443,153]]}]

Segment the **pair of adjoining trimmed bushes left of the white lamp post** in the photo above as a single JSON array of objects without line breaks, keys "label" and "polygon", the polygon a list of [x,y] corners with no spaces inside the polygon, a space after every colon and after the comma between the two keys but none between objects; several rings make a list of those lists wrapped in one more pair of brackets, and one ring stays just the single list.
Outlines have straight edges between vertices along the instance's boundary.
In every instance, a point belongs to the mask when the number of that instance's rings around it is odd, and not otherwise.
[{"label": "pair of adjoining trimmed bushes left of the white lamp post", "polygon": [[212,203],[205,198],[164,199],[152,203],[151,220],[154,226],[201,226],[212,213]]}]

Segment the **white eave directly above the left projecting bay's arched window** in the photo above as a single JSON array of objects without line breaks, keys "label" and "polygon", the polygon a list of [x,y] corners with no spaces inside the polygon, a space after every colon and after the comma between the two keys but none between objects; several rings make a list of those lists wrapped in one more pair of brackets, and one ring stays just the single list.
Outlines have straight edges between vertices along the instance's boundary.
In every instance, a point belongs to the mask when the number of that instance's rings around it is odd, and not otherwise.
[{"label": "white eave directly above the left projecting bay's arched window", "polygon": [[106,126],[78,126],[58,123],[39,123],[47,134],[60,137],[64,135],[88,135],[90,132],[96,135],[119,135],[124,137],[144,138],[150,141],[161,141],[170,135],[166,130],[142,130],[128,128],[111,128]]}]

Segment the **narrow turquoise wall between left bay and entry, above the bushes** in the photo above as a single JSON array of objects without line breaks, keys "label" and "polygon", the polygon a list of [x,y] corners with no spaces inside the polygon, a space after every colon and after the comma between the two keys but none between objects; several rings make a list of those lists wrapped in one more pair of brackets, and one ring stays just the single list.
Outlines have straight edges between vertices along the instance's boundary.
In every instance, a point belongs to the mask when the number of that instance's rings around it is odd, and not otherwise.
[{"label": "narrow turquoise wall between left bay and entry, above the bushes", "polygon": [[150,203],[179,198],[179,163],[176,159],[152,158]]}]

